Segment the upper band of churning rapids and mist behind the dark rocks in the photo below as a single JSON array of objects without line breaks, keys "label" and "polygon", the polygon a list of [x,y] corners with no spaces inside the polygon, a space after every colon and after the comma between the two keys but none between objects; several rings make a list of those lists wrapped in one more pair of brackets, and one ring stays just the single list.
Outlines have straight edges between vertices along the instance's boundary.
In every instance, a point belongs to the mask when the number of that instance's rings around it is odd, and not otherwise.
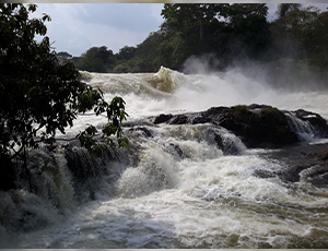
[{"label": "upper band of churning rapids and mist behind the dark rocks", "polygon": [[[187,62],[184,74],[162,68],[157,73],[98,74],[92,73],[90,84],[105,89],[110,99],[121,95],[131,118],[161,112],[201,111],[214,106],[265,104],[280,109],[307,109],[328,118],[325,104],[328,91],[311,87],[274,87],[258,73],[248,76],[245,69],[213,72],[203,61]],[[85,73],[90,74],[90,73]],[[309,84],[311,85],[311,84]]]}]

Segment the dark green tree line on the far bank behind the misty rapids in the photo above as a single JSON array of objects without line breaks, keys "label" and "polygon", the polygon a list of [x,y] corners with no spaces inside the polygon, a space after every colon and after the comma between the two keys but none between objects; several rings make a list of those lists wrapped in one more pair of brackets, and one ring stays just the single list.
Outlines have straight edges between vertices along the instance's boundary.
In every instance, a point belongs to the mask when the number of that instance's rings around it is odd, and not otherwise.
[{"label": "dark green tree line on the far bank behind the misty rapids", "polygon": [[289,82],[326,76],[327,11],[282,3],[269,21],[265,3],[176,3],[164,4],[162,15],[160,29],[137,47],[124,47],[118,53],[91,48],[73,58],[75,65],[96,72],[156,72],[161,65],[183,71],[190,57],[207,56],[214,70],[250,60]]}]

